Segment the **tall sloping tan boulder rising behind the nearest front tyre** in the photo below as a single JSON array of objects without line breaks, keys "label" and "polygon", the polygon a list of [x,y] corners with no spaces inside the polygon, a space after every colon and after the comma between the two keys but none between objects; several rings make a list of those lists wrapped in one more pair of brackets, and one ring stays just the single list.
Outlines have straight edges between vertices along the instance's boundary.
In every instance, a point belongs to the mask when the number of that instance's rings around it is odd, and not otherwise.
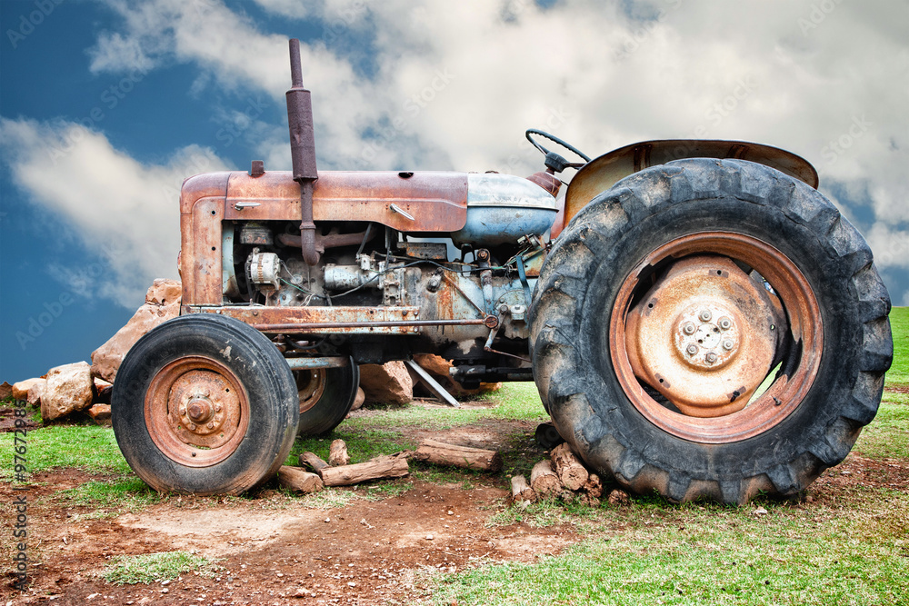
[{"label": "tall sloping tan boulder rising behind the nearest front tyre", "polygon": [[180,283],[176,280],[155,280],[145,294],[145,305],[107,343],[92,352],[92,374],[114,382],[117,369],[130,348],[145,333],[180,315]]}]

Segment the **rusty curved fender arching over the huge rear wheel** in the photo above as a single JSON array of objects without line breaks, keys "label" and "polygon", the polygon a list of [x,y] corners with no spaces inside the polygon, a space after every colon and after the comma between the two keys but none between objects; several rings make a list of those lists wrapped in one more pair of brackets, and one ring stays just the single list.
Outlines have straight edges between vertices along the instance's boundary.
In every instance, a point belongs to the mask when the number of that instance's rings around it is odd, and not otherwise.
[{"label": "rusty curved fender arching over the huge rear wheel", "polygon": [[817,187],[817,171],[804,158],[771,147],[744,141],[662,140],[625,145],[594,158],[574,175],[565,194],[564,224],[594,196],[606,191],[629,174],[682,158],[735,158],[766,164],[804,183]]}]

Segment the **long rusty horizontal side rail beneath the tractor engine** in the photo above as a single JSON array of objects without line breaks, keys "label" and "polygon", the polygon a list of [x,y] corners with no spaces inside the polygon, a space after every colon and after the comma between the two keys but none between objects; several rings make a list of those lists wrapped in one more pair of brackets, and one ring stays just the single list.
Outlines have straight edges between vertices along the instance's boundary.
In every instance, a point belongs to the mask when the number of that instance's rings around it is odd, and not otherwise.
[{"label": "long rusty horizontal side rail beneath the tractor engine", "polygon": [[183,313],[219,313],[265,333],[416,334],[421,328],[482,324],[484,318],[419,319],[408,307],[265,307],[184,305]]}]

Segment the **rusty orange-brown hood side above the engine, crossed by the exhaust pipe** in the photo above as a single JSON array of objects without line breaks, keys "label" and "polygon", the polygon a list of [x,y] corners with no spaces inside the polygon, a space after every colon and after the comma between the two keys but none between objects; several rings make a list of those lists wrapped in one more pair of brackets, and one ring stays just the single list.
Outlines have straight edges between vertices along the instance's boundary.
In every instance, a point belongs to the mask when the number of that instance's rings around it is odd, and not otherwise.
[{"label": "rusty orange-brown hood side above the engine, crossed by the exhaust pipe", "polygon": [[[300,186],[289,172],[230,174],[227,219],[298,221],[300,212]],[[467,174],[321,172],[313,218],[372,221],[402,232],[455,232],[467,222]]]}]

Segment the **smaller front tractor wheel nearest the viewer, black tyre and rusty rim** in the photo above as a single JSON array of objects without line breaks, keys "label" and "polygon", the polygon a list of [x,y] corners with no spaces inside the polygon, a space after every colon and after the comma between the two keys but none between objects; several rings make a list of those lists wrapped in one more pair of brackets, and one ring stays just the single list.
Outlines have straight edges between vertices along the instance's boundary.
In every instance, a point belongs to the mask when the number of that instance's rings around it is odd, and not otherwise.
[{"label": "smaller front tractor wheel nearest the viewer, black tyre and rusty rim", "polygon": [[111,409],[126,462],[159,492],[245,492],[285,462],[299,421],[294,377],[274,343],[212,314],[139,339]]}]

